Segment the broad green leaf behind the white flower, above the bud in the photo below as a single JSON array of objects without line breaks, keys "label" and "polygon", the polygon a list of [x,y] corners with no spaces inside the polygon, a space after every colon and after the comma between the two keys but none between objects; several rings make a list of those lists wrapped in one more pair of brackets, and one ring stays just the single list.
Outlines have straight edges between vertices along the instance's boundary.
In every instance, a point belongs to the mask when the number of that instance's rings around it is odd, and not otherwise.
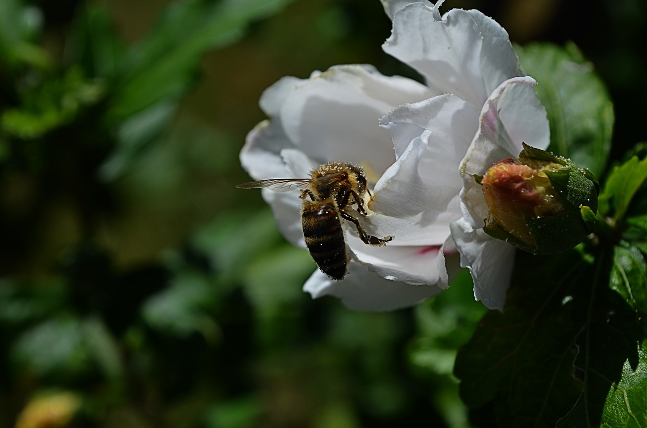
[{"label": "broad green leaf behind the white flower, above the bud", "polygon": [[591,63],[573,44],[517,46],[516,52],[523,69],[538,81],[535,89],[551,126],[549,150],[600,177],[611,148],[614,116]]}]

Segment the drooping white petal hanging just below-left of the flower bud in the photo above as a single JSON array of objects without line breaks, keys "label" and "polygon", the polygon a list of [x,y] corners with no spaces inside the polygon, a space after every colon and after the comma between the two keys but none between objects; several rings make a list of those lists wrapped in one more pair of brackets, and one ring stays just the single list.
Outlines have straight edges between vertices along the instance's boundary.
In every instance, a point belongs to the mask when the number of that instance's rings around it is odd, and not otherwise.
[{"label": "drooping white petal hanging just below-left of the flower bud", "polygon": [[473,229],[465,219],[452,222],[452,238],[461,253],[461,266],[474,280],[474,298],[490,309],[503,310],[510,286],[515,248]]}]

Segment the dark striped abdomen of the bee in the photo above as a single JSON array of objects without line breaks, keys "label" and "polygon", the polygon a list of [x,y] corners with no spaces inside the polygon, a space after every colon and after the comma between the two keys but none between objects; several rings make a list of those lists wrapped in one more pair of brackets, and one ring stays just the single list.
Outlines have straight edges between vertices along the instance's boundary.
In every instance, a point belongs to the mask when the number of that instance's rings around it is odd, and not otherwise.
[{"label": "dark striped abdomen of the bee", "polygon": [[342,220],[334,202],[303,201],[303,237],[316,264],[333,279],[342,279],[348,257]]}]

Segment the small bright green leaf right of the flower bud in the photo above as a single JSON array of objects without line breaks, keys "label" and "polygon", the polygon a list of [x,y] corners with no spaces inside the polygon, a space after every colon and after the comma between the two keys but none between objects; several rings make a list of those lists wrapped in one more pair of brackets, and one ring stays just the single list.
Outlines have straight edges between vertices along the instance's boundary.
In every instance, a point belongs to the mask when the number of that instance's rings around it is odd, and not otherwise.
[{"label": "small bright green leaf right of the flower bud", "polygon": [[633,156],[622,165],[613,167],[600,195],[600,212],[613,217],[615,222],[624,219],[631,200],[647,178],[647,158]]}]

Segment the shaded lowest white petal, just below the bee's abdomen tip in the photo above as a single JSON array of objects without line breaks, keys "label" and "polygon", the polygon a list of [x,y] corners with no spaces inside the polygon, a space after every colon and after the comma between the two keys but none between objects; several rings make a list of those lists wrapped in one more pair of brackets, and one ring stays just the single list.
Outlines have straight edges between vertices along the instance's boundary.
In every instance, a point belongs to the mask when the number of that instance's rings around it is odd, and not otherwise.
[{"label": "shaded lowest white petal, just below the bee's abdomen tip", "polygon": [[334,281],[316,271],[306,281],[303,291],[313,299],[333,295],[347,308],[364,311],[393,310],[412,306],[441,292],[432,285],[409,285],[389,281],[369,272],[366,266],[351,262],[349,272],[342,281]]}]

